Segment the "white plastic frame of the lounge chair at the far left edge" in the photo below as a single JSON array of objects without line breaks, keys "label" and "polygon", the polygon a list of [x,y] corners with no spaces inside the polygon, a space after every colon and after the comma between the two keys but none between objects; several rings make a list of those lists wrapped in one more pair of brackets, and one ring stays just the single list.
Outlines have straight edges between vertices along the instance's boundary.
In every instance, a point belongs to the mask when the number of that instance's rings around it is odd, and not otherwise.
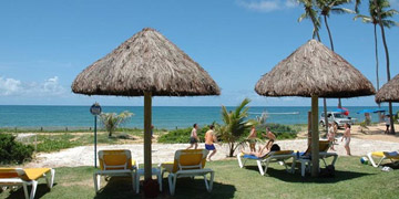
[{"label": "white plastic frame of the lounge chair at the far left edge", "polygon": [[[22,186],[23,193],[25,199],[33,199],[35,195],[35,190],[38,188],[38,180],[24,180],[22,176],[27,176],[25,171],[22,168],[10,168],[8,172],[17,172],[20,177],[14,178],[0,178],[0,187],[8,186]],[[7,172],[7,171],[6,171]],[[51,189],[54,184],[55,170],[50,168],[48,172],[44,172],[40,178],[45,178],[47,186]],[[28,186],[32,186],[32,190],[30,195],[28,195]]]}]

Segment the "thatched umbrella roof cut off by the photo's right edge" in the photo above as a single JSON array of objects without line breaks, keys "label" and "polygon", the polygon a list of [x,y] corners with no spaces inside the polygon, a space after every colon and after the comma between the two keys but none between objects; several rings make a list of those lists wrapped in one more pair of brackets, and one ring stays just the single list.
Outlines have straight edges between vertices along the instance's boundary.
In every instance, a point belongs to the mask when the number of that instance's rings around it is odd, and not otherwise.
[{"label": "thatched umbrella roof cut off by the photo's right edge", "polygon": [[377,92],[376,102],[399,102],[399,74]]}]

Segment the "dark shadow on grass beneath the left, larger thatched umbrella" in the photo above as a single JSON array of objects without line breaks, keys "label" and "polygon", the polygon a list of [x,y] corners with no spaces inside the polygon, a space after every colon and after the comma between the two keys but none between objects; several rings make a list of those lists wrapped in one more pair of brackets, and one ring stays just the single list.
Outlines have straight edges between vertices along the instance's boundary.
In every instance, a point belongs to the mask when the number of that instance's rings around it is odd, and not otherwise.
[{"label": "dark shadow on grass beneath the left, larger thatched umbrella", "polygon": [[[144,198],[143,187],[140,186],[140,193],[135,193],[132,188],[132,179],[127,177],[111,178],[110,181],[103,186],[94,197],[95,199]],[[234,198],[235,191],[236,188],[232,185],[214,181],[213,190],[207,192],[203,178],[178,178],[175,195],[171,196],[167,178],[164,178],[162,181],[162,192],[156,198]]]}]

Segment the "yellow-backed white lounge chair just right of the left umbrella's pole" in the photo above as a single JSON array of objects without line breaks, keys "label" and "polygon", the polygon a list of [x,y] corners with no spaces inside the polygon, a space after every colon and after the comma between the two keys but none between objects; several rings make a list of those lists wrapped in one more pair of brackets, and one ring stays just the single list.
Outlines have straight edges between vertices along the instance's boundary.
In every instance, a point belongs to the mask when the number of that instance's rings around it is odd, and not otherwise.
[{"label": "yellow-backed white lounge chair just right of the left umbrella's pole", "polygon": [[[163,163],[160,165],[163,168],[162,177],[164,172],[168,172],[167,180],[172,196],[175,193],[176,180],[181,177],[203,176],[206,190],[208,192],[212,191],[215,172],[212,169],[204,168],[207,154],[208,151],[205,149],[176,150],[174,163]],[[209,179],[206,177],[207,174],[211,175]]]}]

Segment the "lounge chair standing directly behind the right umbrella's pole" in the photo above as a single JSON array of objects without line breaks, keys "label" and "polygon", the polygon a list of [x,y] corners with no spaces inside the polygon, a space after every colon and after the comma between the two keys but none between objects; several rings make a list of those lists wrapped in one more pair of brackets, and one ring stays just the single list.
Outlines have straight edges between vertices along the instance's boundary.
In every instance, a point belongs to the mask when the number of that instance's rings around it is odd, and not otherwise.
[{"label": "lounge chair standing directly behind the right umbrella's pole", "polygon": [[[334,157],[331,165],[334,166],[337,161],[338,154],[337,153],[328,153],[330,148],[329,140],[319,140],[319,158],[323,160],[325,166],[327,166],[326,158]],[[300,163],[300,175],[305,176],[305,169],[310,169],[310,156],[311,156],[311,145],[308,146],[305,153],[298,153],[299,157],[296,158],[298,163]]]}]

